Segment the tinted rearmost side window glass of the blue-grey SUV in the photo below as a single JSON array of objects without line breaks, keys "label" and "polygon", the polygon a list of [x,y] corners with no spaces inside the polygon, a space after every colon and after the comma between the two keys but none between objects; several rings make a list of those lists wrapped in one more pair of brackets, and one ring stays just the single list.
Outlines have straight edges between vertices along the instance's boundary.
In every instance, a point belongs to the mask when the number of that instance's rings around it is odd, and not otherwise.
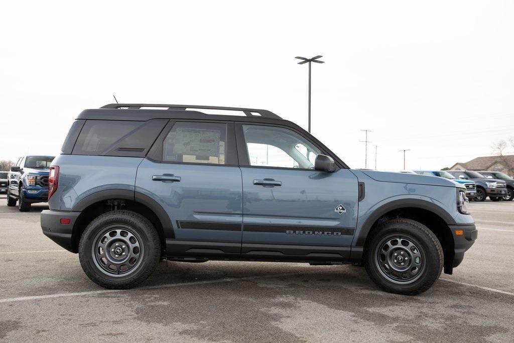
[{"label": "tinted rearmost side window glass of the blue-grey SUV", "polygon": [[99,155],[118,140],[140,127],[140,121],[87,120],[80,132],[73,153]]}]

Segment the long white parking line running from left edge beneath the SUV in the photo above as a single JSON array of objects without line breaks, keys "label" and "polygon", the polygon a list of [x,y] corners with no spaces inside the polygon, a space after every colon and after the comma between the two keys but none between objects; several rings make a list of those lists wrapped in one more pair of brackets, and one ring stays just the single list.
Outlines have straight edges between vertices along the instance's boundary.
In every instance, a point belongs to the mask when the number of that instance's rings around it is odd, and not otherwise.
[{"label": "long white parking line running from left edge beneath the SUV", "polygon": [[[134,291],[155,290],[155,289],[160,289],[160,288],[171,288],[171,287],[181,287],[181,286],[191,286],[191,285],[201,285],[201,284],[221,283],[221,282],[231,282],[231,281],[246,281],[246,280],[259,279],[259,278],[274,278],[274,277],[284,277],[284,276],[292,276],[292,275],[303,275],[306,273],[315,273],[315,272],[319,272],[319,270],[305,270],[305,272],[302,272],[302,273],[283,273],[283,274],[271,274],[271,275],[260,275],[260,276],[247,276],[247,277],[242,277],[242,278],[223,278],[223,279],[216,279],[216,280],[168,283],[168,284],[163,284],[163,285],[138,287],[138,288],[134,288]],[[98,291],[87,291],[87,292],[76,292],[76,293],[57,293],[57,294],[46,294],[46,295],[34,295],[34,296],[28,296],[28,297],[0,299],[0,303],[14,302],[14,301],[51,299],[51,298],[63,298],[63,297],[79,297],[79,296],[84,296],[84,295],[118,293],[118,292],[128,292],[128,291],[130,291],[130,290],[98,290]]]}]

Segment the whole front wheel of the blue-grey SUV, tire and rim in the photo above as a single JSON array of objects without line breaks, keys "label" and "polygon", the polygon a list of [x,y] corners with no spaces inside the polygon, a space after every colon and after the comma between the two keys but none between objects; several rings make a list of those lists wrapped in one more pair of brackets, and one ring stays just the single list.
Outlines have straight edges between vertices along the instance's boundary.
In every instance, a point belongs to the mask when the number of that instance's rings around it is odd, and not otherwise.
[{"label": "whole front wheel of the blue-grey SUV, tire and rim", "polygon": [[[384,250],[386,246],[389,248]],[[364,265],[370,278],[383,290],[396,294],[427,291],[439,278],[443,262],[443,248],[435,234],[410,219],[380,223],[364,247]]]}]

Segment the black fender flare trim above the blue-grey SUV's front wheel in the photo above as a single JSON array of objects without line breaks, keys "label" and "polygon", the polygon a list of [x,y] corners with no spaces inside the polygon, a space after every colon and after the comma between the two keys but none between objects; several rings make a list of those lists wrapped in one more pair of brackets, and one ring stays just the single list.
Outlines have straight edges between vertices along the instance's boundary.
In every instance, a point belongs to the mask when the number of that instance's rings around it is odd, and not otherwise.
[{"label": "black fender flare trim above the blue-grey SUV's front wheel", "polygon": [[[456,206],[456,205],[455,205]],[[423,210],[430,211],[434,213],[435,215],[439,216],[439,218],[443,219],[446,224],[448,225],[455,225],[457,224],[453,217],[448,213],[445,209],[443,209],[440,206],[435,205],[434,203],[431,203],[426,200],[420,200],[420,199],[399,199],[392,201],[390,203],[384,204],[377,208],[369,217],[366,219],[364,224],[362,224],[362,227],[359,231],[359,236],[357,236],[356,240],[356,246],[364,246],[364,243],[366,242],[366,238],[368,238],[368,234],[370,233],[371,228],[373,227],[373,224],[384,214],[401,209],[401,208],[419,208]]]}]

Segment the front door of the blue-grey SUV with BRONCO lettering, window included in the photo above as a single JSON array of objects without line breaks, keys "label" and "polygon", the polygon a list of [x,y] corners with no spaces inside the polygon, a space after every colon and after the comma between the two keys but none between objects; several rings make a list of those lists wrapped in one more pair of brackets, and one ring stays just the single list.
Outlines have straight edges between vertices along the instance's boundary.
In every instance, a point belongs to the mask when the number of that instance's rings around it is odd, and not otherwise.
[{"label": "front door of the blue-grey SUV with BRONCO lettering, window included", "polygon": [[247,124],[237,130],[242,257],[347,260],[357,223],[357,177],[342,168],[314,170],[316,156],[324,152],[299,132]]}]

